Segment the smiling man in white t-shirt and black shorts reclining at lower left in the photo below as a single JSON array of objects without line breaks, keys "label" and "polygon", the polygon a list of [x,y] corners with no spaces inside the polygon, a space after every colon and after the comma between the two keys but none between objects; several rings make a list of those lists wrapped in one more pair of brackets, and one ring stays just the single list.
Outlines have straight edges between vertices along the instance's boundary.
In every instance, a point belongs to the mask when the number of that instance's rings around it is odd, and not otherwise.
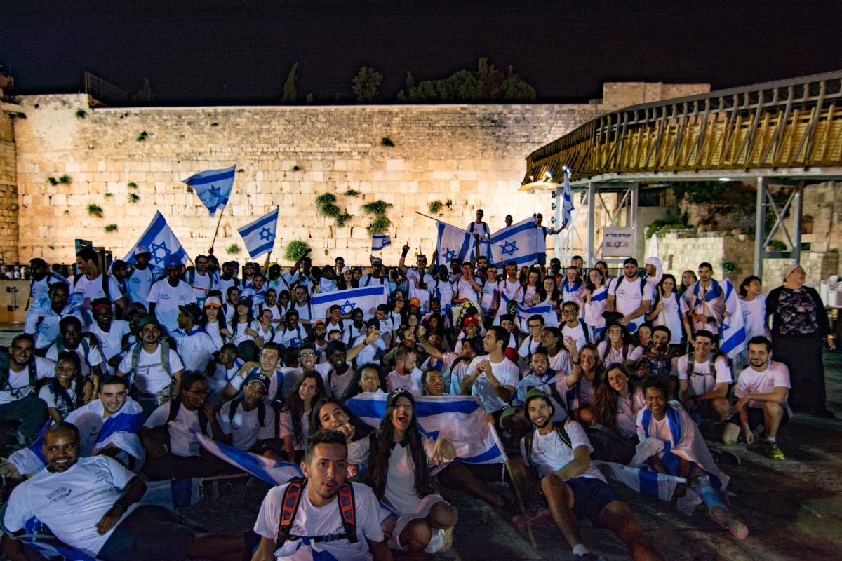
[{"label": "smiling man in white t-shirt and black shorts reclining at lower left", "polygon": [[[3,514],[7,532],[19,532],[35,517],[61,542],[101,561],[242,559],[243,534],[198,535],[174,511],[137,505],[147,485],[114,458],[79,458],[81,446],[79,430],[70,423],[46,431],[46,468],[12,491]],[[3,553],[13,561],[29,558],[12,533],[3,535]]]}]

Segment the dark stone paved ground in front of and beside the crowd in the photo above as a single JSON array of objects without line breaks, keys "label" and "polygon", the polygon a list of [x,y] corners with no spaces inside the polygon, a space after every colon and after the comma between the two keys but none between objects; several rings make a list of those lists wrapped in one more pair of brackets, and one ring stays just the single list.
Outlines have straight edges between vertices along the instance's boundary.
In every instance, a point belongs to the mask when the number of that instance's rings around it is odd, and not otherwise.
[{"label": "dark stone paved ground in front of and beside the crowd", "polygon": [[[842,420],[842,355],[825,353],[825,364],[829,407]],[[720,530],[701,507],[687,517],[672,504],[614,486],[670,561],[842,558],[842,421],[797,415],[780,442],[786,453],[784,461],[772,461],[742,445],[728,447],[742,461],[738,468],[724,470],[733,478],[733,511],[751,531],[743,542]],[[185,509],[184,514],[218,532],[251,527],[259,490],[247,489],[244,480],[217,487],[217,500],[211,501],[206,493],[199,505]],[[499,511],[459,492],[445,495],[460,511],[454,548],[435,556],[398,558],[573,559],[556,530],[536,530],[535,550]],[[587,526],[583,535],[589,547],[606,559],[628,558],[610,532]]]}]

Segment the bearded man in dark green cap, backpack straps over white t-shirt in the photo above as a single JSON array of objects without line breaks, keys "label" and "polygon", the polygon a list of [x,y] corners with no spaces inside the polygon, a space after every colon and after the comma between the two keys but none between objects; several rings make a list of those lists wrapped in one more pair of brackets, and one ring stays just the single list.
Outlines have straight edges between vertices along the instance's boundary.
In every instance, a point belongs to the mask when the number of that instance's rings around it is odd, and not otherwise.
[{"label": "bearded man in dark green cap, backpack straps over white t-shirt", "polygon": [[144,417],[179,393],[184,373],[179,353],[168,342],[161,341],[164,332],[154,315],[144,316],[137,324],[138,342],[125,353],[117,367],[118,376],[130,377],[131,397],[141,404]]}]

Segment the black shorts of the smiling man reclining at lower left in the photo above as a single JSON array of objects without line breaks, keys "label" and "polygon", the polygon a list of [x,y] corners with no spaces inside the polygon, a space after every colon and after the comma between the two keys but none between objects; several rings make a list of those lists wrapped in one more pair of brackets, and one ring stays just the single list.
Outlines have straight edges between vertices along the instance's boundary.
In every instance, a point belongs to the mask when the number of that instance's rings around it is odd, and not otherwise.
[{"label": "black shorts of the smiling man reclining at lower left", "polygon": [[180,522],[177,512],[163,506],[140,505],[115,527],[97,558],[184,561],[194,536],[195,532]]}]

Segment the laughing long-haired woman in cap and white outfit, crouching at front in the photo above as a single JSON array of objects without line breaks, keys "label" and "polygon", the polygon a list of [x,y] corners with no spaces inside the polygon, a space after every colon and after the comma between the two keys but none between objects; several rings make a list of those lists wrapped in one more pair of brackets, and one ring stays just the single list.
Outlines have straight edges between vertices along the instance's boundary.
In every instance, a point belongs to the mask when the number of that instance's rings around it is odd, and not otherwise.
[{"label": "laughing long-haired woman in cap and white outfit, crouching at front", "polygon": [[428,468],[453,458],[456,449],[449,441],[418,431],[413,394],[392,391],[368,451],[368,484],[393,512],[381,520],[390,548],[426,553],[450,548],[459,512],[436,494]]}]

